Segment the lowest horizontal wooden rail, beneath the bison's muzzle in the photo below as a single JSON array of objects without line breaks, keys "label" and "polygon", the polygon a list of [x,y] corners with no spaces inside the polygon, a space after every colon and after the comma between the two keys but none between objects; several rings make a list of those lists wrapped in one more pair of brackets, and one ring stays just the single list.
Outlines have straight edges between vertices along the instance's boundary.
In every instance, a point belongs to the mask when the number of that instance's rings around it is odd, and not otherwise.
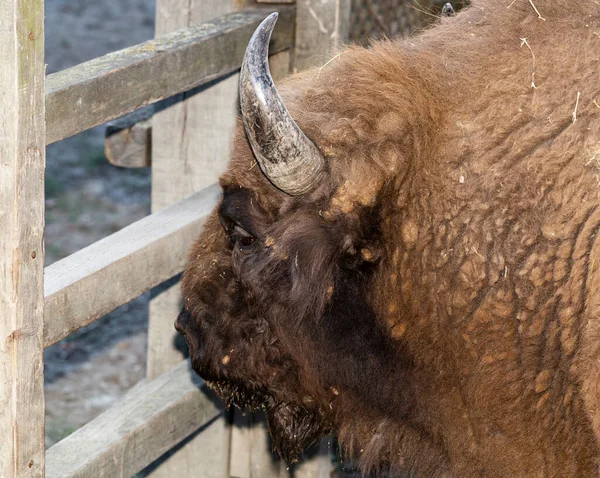
[{"label": "lowest horizontal wooden rail, beneath the bison's muzzle", "polygon": [[46,452],[46,478],[132,476],[222,413],[189,361],[133,387]]}]

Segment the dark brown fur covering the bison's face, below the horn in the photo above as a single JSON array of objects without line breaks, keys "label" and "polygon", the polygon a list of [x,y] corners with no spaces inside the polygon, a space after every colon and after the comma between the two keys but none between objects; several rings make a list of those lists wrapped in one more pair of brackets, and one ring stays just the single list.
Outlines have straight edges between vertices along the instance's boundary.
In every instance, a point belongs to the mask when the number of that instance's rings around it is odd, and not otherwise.
[{"label": "dark brown fur covering the bison's face, below the horn", "polygon": [[[274,220],[247,189],[225,188],[222,227],[199,245],[225,250],[199,255],[203,264],[186,271],[176,325],[194,369],[228,404],[264,409],[290,459],[331,429],[340,393],[375,392],[382,414],[409,405],[378,380],[402,381],[408,368],[367,302],[375,253],[367,261],[359,250],[376,235],[378,212],[363,212],[360,239],[312,212]],[[244,242],[240,227],[255,240]]]}]

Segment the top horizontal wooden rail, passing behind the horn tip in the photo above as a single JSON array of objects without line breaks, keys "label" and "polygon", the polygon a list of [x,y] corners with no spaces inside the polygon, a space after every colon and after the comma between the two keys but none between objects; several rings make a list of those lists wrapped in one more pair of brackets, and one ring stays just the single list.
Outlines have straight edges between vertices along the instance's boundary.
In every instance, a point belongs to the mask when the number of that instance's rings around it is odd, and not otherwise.
[{"label": "top horizontal wooden rail, passing behind the horn tip", "polygon": [[[271,53],[294,45],[295,8],[277,10]],[[46,143],[234,72],[252,33],[272,11],[230,13],[48,75]]]}]

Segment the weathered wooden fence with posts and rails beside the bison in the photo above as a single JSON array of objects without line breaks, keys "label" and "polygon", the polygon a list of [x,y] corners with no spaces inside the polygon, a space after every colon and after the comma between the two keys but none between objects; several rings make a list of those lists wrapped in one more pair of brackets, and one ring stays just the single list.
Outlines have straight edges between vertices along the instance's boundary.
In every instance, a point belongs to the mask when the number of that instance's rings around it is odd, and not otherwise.
[{"label": "weathered wooden fence with posts and rails beside the bison", "polygon": [[[0,477],[126,477],[169,450],[152,476],[281,476],[262,424],[229,426],[175,350],[176,287],[151,303],[147,379],[44,446],[44,348],[181,272],[214,207],[254,29],[280,12],[279,77],[322,64],[347,35],[350,0],[257,2],[157,0],[155,40],[48,76],[44,1],[0,2]],[[44,269],[45,146],[173,97],[151,119],[152,214]]]}]

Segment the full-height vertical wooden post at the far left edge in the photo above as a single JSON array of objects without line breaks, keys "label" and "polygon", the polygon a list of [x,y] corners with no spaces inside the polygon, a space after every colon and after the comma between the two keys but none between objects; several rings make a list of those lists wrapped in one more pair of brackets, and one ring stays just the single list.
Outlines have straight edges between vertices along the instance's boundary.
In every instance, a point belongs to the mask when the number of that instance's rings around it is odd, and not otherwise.
[{"label": "full-height vertical wooden post at the far left edge", "polygon": [[0,1],[0,476],[44,476],[44,2]]}]

